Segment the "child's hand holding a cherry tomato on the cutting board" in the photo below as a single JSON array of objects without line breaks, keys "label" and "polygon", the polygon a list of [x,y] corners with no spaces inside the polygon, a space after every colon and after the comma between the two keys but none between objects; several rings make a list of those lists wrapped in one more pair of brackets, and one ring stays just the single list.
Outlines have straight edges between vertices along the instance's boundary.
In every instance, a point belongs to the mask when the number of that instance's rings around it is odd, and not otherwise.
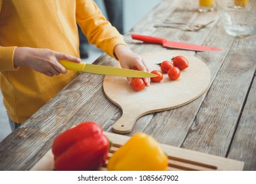
[{"label": "child's hand holding a cherry tomato on the cutting board", "polygon": [[[116,45],[115,54],[122,68],[132,69],[136,67],[138,70],[149,72],[145,60],[143,60],[139,55],[134,54],[126,45]],[[130,85],[132,78],[127,78],[127,80]],[[143,81],[147,86],[149,86],[149,78],[143,78]]]}]

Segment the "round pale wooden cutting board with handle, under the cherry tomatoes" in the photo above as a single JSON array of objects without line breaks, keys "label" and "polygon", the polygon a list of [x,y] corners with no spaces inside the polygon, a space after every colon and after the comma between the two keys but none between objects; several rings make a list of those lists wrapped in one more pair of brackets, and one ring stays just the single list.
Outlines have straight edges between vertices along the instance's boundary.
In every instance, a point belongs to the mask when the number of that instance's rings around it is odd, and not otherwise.
[{"label": "round pale wooden cutting board with handle, under the cherry tomatoes", "polygon": [[[134,91],[126,78],[105,76],[103,89],[108,99],[122,109],[122,116],[113,125],[116,133],[132,131],[138,118],[152,112],[170,110],[188,104],[202,95],[209,87],[211,72],[206,64],[185,51],[157,51],[141,56],[147,62],[150,71],[160,70],[157,63],[171,60],[182,55],[188,59],[190,66],[182,70],[180,78],[172,81],[164,74],[159,83],[151,82],[142,91]],[[120,67],[120,66],[116,66]]]}]

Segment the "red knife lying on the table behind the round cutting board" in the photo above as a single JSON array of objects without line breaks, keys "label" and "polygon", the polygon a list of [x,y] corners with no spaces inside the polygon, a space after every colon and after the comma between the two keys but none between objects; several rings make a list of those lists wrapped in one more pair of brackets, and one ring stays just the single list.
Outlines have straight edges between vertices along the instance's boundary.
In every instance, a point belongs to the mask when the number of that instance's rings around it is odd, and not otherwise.
[{"label": "red knife lying on the table behind the round cutting board", "polygon": [[208,47],[203,45],[195,45],[190,43],[181,43],[176,41],[168,41],[161,37],[152,37],[148,35],[137,35],[132,34],[132,39],[137,39],[147,43],[157,43],[162,44],[163,47],[170,47],[173,49],[185,49],[190,51],[224,51],[223,49],[218,49],[216,47]]}]

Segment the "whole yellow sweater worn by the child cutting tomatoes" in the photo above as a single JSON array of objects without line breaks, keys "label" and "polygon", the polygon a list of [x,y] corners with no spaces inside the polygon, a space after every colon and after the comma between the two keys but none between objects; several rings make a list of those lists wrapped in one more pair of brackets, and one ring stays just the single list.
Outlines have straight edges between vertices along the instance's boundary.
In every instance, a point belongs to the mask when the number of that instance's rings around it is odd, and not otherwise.
[{"label": "whole yellow sweater worn by the child cutting tomatoes", "polygon": [[79,57],[76,21],[88,41],[111,57],[116,45],[125,45],[91,0],[0,0],[0,85],[14,122],[25,122],[79,74],[51,78],[25,66],[15,70],[14,50],[47,48]]}]

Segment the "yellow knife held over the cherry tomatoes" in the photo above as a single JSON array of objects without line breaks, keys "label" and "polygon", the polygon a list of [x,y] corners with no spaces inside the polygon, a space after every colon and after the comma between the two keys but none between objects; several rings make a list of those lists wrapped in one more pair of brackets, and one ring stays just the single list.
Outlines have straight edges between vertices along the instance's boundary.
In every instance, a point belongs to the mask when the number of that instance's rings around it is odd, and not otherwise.
[{"label": "yellow knife held over the cherry tomatoes", "polygon": [[102,74],[107,76],[120,76],[128,78],[153,78],[156,74],[151,74],[149,72],[143,72],[139,70],[130,70],[126,68],[116,68],[111,66],[102,66],[97,64],[88,64],[84,62],[70,62],[68,60],[59,61],[64,68],[67,70],[74,70],[80,72],[87,72],[93,74]]}]

